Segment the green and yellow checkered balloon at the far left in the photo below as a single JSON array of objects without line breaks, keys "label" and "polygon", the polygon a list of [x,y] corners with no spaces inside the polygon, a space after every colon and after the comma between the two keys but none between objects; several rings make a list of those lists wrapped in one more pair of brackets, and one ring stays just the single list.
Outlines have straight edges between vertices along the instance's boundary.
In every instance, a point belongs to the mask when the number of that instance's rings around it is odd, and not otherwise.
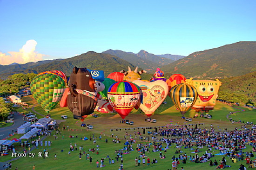
[{"label": "green and yellow checkered balloon at the far left", "polygon": [[61,100],[65,82],[60,76],[41,74],[32,80],[30,87],[34,99],[49,113]]}]

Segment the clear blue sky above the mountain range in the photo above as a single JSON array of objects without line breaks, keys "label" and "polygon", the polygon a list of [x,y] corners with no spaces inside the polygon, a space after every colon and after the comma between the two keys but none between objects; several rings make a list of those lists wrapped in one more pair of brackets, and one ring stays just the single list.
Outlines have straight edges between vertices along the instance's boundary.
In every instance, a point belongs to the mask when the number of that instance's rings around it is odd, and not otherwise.
[{"label": "clear blue sky above the mountain range", "polygon": [[0,52],[33,39],[42,59],[108,49],[188,56],[256,41],[255,9],[256,0],[0,0]]}]

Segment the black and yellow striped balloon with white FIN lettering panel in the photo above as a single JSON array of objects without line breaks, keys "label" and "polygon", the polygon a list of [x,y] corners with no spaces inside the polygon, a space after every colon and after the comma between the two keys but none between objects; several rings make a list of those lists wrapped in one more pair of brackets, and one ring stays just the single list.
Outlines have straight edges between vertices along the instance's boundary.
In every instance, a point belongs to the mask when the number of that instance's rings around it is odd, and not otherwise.
[{"label": "black and yellow striped balloon with white FIN lettering panel", "polygon": [[171,91],[171,99],[175,106],[184,114],[194,105],[197,98],[197,91],[194,86],[188,84],[177,84]]}]

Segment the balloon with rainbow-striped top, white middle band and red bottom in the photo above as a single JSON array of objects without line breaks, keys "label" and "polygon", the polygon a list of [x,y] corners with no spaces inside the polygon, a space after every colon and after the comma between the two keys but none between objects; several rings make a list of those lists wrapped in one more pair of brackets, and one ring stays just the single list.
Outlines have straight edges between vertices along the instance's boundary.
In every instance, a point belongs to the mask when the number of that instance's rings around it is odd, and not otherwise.
[{"label": "balloon with rainbow-striped top, white middle band and red bottom", "polygon": [[108,101],[124,119],[136,106],[140,98],[140,89],[132,82],[115,82],[108,88]]}]

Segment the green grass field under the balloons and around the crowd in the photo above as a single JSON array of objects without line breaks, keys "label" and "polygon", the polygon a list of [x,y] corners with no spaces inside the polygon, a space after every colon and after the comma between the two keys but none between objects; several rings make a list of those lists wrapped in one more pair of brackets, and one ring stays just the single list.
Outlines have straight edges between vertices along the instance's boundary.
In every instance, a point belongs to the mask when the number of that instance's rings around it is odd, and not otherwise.
[{"label": "green grass field under the balloons and around the crowd", "polygon": [[[31,106],[35,104],[35,101],[31,97],[24,97],[24,100],[27,100],[26,102],[29,103],[29,109],[31,109]],[[229,112],[236,112],[238,109],[234,107],[230,107],[228,105],[225,105],[223,103],[217,103],[215,110],[210,111],[210,114],[213,116],[212,119],[205,119],[205,118],[195,118],[193,119],[192,122],[187,122],[185,120],[181,119],[181,114],[179,111],[176,111],[175,107],[173,106],[172,102],[168,98],[166,100],[168,104],[162,104],[155,112],[155,114],[152,116],[153,119],[157,120],[157,123],[148,123],[145,122],[144,120],[147,118],[143,113],[140,113],[139,110],[133,110],[130,115],[127,116],[126,119],[133,120],[134,125],[126,125],[126,124],[120,124],[120,116],[113,114],[113,113],[98,113],[99,117],[98,118],[93,118],[92,116],[88,116],[88,118],[84,121],[86,124],[90,123],[94,125],[94,129],[92,130],[87,130],[87,128],[81,127],[81,121],[80,120],[74,120],[72,113],[68,110],[68,108],[61,108],[61,107],[56,107],[54,110],[51,111],[51,117],[56,120],[61,119],[61,115],[67,115],[68,119],[60,124],[60,129],[61,129],[61,136],[58,134],[58,138],[55,140],[54,136],[49,136],[45,139],[45,141],[52,141],[52,146],[39,146],[38,149],[34,149],[31,151],[31,153],[35,154],[35,157],[22,157],[18,160],[15,160],[12,162],[13,164],[13,169],[15,167],[18,167],[19,170],[29,170],[32,169],[33,165],[36,165],[36,170],[73,170],[73,169],[91,169],[91,170],[96,170],[96,161],[101,158],[106,157],[109,155],[111,158],[115,158],[115,150],[120,150],[124,147],[124,142],[125,140],[124,135],[126,132],[128,134],[132,134],[134,136],[135,132],[140,131],[141,133],[143,132],[142,129],[138,129],[138,127],[159,127],[159,126],[165,126],[168,124],[171,124],[172,126],[178,126],[178,125],[191,125],[195,123],[201,123],[200,128],[209,128],[210,125],[212,124],[216,129],[219,127],[220,129],[222,128],[228,128],[229,130],[234,129],[235,127],[238,127],[238,129],[241,128],[242,124],[239,123],[234,123],[231,124],[229,120],[227,120],[226,115]],[[37,105],[35,107],[35,110],[39,113],[42,113],[46,115],[46,112],[43,111],[43,109]],[[186,117],[193,117],[195,115],[195,111],[191,110],[189,113],[186,113]],[[39,117],[39,116],[38,116]],[[243,119],[244,121],[255,121],[255,110],[253,109],[245,109],[245,112],[241,113],[236,113],[232,114],[230,117],[234,119]],[[172,121],[172,122],[171,122]],[[62,131],[63,126],[69,126],[70,129],[73,130],[66,130]],[[122,130],[114,130],[111,131],[111,129],[122,129]],[[126,130],[125,130],[126,129]],[[148,130],[147,130],[148,131]],[[62,139],[62,134],[64,134],[64,139]],[[89,148],[96,147],[96,145],[93,145],[93,141],[87,140],[81,140],[80,138],[85,136],[88,139],[90,137],[93,137],[93,134],[97,137],[97,143],[100,145],[100,151],[99,155],[96,155],[96,153],[92,153],[88,151]],[[102,135],[102,139],[99,140],[98,137],[99,135]],[[113,144],[112,143],[112,138],[111,135],[114,134],[118,135],[118,137],[121,139],[121,143],[119,144]],[[69,135],[74,135],[78,136],[78,138],[69,138]],[[12,136],[12,138],[20,138],[22,135],[15,134]],[[105,143],[105,139],[108,139],[108,143]],[[137,141],[137,143],[140,143],[141,141]],[[74,143],[77,144],[79,147],[80,145],[83,146],[84,151],[86,153],[89,153],[90,156],[93,157],[93,164],[89,163],[89,160],[86,160],[85,155],[82,156],[82,159],[79,159],[79,151],[72,151],[70,155],[68,155],[68,150],[69,150],[69,144]],[[145,143],[144,141],[142,143]],[[15,144],[18,145],[18,144]],[[164,144],[164,146],[166,146]],[[49,152],[49,158],[39,158],[38,153],[40,151],[43,151],[47,147],[47,151]],[[166,154],[166,159],[161,159],[159,157],[159,152],[151,152],[146,154],[152,161],[153,158],[156,158],[158,160],[157,164],[150,164],[150,166],[143,166],[141,167],[135,167],[135,157],[139,156],[139,153],[137,151],[131,151],[130,154],[123,155],[123,160],[124,160],[124,170],[167,170],[171,169],[171,157],[173,155],[178,156],[178,154],[174,154],[176,149],[174,148],[175,145],[172,145],[172,149],[168,149],[167,154]],[[22,148],[19,146],[16,146],[16,151],[21,152]],[[136,144],[133,145],[133,148],[136,148]],[[64,152],[61,152],[61,150],[64,150]],[[202,149],[202,152],[199,153],[199,156],[202,155],[202,153],[205,153],[207,148]],[[191,153],[191,151],[188,151],[187,149],[182,148],[182,151],[186,152],[187,155],[194,156],[195,153]],[[215,152],[216,151],[216,152]],[[251,151],[251,146],[249,146],[248,149],[244,151]],[[216,154],[218,153],[217,150],[213,150],[213,153]],[[57,159],[54,159],[54,154],[57,154]],[[216,156],[211,158],[211,160],[221,160],[223,156]],[[11,157],[11,155],[0,157],[0,161],[7,161],[9,159],[12,159],[14,157]],[[226,157],[227,159],[227,164],[231,165],[231,167],[228,168],[228,170],[237,170],[239,168],[240,162],[233,164],[229,157]],[[254,159],[254,158],[253,158]],[[245,161],[242,161],[241,163],[245,164]],[[115,164],[108,164],[108,160],[105,159],[104,164],[106,164],[106,167],[103,167],[105,170],[118,170],[119,168],[119,163],[116,162]],[[180,170],[180,167],[183,166],[185,170],[213,170],[216,167],[209,167],[209,163],[202,163],[202,164],[195,164],[195,163],[189,163],[189,160],[187,164],[179,164],[178,170]],[[246,167],[248,167],[246,165]]]}]

